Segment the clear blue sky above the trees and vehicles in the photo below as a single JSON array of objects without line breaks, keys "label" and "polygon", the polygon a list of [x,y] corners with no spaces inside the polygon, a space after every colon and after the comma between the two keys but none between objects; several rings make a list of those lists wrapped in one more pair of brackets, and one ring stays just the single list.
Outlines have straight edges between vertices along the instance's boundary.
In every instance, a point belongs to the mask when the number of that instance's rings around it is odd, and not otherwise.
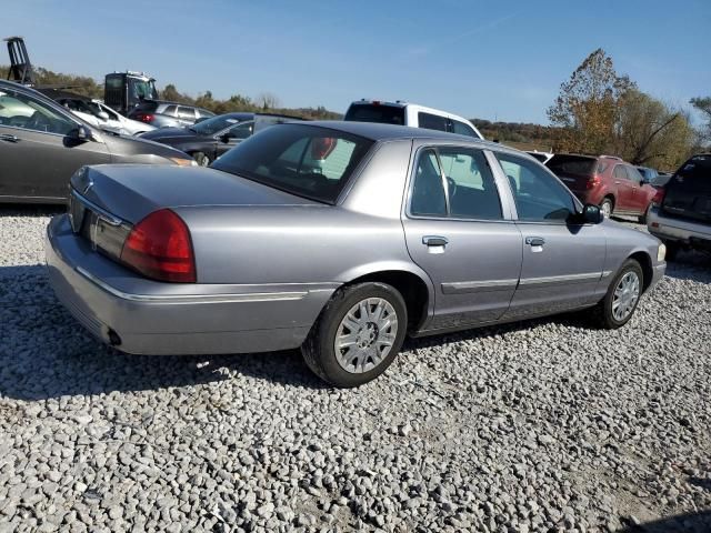
[{"label": "clear blue sky above the trees and vehicles", "polygon": [[709,28],[711,0],[22,0],[3,2],[1,37],[23,36],[51,70],[144,70],[192,94],[268,91],[341,112],[399,99],[547,123],[560,83],[599,47],[671,104],[711,95]]}]

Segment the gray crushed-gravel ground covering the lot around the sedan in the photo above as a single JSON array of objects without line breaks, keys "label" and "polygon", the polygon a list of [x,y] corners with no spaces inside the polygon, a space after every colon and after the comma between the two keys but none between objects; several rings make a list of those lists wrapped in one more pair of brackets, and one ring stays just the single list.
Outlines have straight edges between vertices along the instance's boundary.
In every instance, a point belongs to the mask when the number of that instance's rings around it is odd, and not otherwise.
[{"label": "gray crushed-gravel ground covering the lot around the sedan", "polygon": [[338,391],[297,352],[97,343],[46,281],[50,213],[0,209],[0,532],[711,531],[705,257],[621,330],[409,341]]}]

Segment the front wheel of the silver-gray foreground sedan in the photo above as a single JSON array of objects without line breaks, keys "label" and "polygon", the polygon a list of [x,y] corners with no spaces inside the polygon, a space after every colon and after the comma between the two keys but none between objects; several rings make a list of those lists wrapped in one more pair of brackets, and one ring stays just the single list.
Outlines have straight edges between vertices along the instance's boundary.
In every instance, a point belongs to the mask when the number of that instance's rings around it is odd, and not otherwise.
[{"label": "front wheel of the silver-gray foreground sedan", "polygon": [[629,322],[642,294],[642,268],[628,259],[608,288],[604,299],[598,304],[600,325],[617,330]]}]

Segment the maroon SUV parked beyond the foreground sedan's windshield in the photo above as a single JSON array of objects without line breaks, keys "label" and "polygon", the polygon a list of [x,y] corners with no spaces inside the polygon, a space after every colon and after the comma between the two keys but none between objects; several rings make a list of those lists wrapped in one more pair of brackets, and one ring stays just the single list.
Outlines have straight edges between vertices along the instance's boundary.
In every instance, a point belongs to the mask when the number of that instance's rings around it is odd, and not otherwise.
[{"label": "maroon SUV parked beyond the foreground sedan's windshield", "polygon": [[605,217],[631,214],[644,222],[657,193],[634,167],[613,155],[557,153],[545,165],[581,202],[600,205]]}]

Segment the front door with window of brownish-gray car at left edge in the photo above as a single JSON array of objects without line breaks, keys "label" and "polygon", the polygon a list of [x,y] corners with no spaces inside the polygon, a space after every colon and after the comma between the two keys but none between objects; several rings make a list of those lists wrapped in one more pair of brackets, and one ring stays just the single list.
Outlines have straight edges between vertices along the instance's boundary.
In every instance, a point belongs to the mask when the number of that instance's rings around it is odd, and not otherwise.
[{"label": "front door with window of brownish-gray car at left edge", "polygon": [[67,198],[80,167],[110,162],[106,144],[72,135],[79,123],[23,91],[0,91],[0,197]]}]

